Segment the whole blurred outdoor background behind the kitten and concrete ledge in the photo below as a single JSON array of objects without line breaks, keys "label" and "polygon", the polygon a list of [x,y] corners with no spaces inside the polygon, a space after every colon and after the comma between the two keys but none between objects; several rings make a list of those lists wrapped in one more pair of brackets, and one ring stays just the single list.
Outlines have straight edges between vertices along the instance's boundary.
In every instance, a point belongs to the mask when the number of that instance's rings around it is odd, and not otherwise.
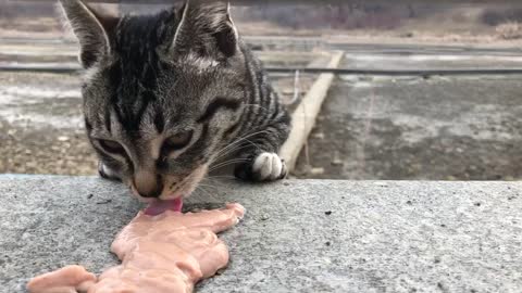
[{"label": "whole blurred outdoor background behind the kitten and concrete ledge", "polygon": [[[170,7],[146,2],[95,7]],[[232,13],[290,111],[321,74],[296,68],[324,68],[340,51],[337,68],[353,71],[336,74],[293,177],[522,178],[522,3],[265,3]],[[58,15],[52,1],[0,0],[0,173],[96,174],[77,44]]]}]

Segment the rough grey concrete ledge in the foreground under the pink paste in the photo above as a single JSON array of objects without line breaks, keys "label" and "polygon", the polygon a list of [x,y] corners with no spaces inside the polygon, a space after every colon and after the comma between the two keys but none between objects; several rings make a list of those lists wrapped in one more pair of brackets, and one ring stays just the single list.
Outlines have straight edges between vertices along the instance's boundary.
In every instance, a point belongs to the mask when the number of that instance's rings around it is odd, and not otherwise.
[{"label": "rough grey concrete ledge in the foreground under the pink paste", "polygon": [[[224,182],[188,208],[237,201],[232,262],[198,292],[521,292],[522,183]],[[67,264],[114,265],[138,204],[94,177],[0,176],[0,292]],[[226,194],[226,195],[225,195]]]}]

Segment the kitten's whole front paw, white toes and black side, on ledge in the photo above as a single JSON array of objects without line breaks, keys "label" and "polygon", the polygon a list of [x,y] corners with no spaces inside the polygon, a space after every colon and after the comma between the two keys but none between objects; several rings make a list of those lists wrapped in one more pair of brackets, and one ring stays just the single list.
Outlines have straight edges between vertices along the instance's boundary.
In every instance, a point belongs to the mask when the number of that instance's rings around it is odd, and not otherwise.
[{"label": "kitten's whole front paw, white toes and black side, on ledge", "polygon": [[247,163],[238,165],[234,175],[249,181],[273,181],[286,177],[286,163],[276,153],[260,153]]}]

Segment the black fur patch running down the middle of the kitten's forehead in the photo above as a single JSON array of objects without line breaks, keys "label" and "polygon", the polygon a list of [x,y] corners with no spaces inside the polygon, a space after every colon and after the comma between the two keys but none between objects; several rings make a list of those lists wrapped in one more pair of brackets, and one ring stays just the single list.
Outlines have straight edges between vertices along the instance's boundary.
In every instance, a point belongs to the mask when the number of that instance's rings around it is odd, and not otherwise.
[{"label": "black fur patch running down the middle of the kitten's forehead", "polygon": [[[122,20],[114,43],[117,61],[109,69],[112,99],[117,120],[127,132],[138,133],[144,115],[157,112],[158,18],[151,15]],[[148,109],[151,109],[148,111]],[[164,127],[161,115],[153,118],[158,130]]]}]

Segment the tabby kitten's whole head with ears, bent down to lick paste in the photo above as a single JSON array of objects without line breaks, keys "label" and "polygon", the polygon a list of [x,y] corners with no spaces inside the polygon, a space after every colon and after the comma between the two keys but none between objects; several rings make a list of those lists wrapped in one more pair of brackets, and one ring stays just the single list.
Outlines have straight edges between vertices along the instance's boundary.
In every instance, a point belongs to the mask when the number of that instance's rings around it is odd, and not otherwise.
[{"label": "tabby kitten's whole head with ears, bent down to lick paste", "polygon": [[120,17],[60,1],[79,40],[85,124],[103,165],[141,198],[192,192],[244,107],[247,71],[228,4]]}]

